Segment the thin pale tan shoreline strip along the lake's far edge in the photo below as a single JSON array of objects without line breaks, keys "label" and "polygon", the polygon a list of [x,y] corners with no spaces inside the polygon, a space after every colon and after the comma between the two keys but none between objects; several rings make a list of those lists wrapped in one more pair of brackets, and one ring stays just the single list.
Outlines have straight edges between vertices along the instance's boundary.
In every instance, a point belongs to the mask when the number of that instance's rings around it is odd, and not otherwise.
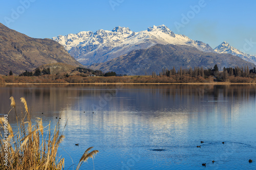
[{"label": "thin pale tan shoreline strip along the lake's far edge", "polygon": [[5,83],[2,85],[256,85],[256,83],[230,83],[230,82],[207,82],[207,83]]}]

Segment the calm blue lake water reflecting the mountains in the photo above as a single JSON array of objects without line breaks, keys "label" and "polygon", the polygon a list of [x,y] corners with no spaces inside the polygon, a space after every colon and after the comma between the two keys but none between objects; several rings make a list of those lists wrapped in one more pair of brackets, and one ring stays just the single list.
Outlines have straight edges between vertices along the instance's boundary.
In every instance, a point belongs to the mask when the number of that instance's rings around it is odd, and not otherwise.
[{"label": "calm blue lake water reflecting the mountains", "polygon": [[[256,169],[253,85],[25,85],[0,94],[2,114],[10,96],[17,109],[24,96],[33,119],[68,120],[65,169],[92,146],[95,169]],[[13,113],[9,121],[14,127]],[[93,169],[92,159],[80,169]]]}]

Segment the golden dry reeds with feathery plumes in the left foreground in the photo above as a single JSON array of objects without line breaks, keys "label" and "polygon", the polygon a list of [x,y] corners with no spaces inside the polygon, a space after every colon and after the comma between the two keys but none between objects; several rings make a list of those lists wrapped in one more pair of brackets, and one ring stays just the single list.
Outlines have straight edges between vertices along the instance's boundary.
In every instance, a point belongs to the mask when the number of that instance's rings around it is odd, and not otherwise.
[{"label": "golden dry reeds with feathery plumes in the left foreground", "polygon": [[[59,144],[65,138],[62,133],[60,134],[59,122],[51,129],[51,122],[44,127],[42,119],[37,118],[37,124],[32,126],[25,98],[20,99],[25,108],[25,115],[23,112],[20,113],[22,118],[17,116],[13,97],[10,100],[11,107],[15,110],[18,130],[15,133],[12,131],[8,119],[5,118],[8,116],[0,118],[0,169],[63,169],[65,158],[57,157]],[[93,159],[98,153],[97,150],[89,153],[91,149],[92,147],[84,152],[76,169],[81,167],[82,162],[89,158]],[[7,159],[5,155],[8,156]]]}]

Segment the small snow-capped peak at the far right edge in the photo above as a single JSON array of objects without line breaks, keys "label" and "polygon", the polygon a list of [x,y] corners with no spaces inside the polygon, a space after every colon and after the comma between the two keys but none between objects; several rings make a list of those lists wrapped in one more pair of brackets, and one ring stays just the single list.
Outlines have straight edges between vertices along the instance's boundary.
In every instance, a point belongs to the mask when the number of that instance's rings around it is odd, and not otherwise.
[{"label": "small snow-capped peak at the far right edge", "polygon": [[244,52],[241,52],[235,47],[232,47],[227,43],[226,41],[222,42],[219,46],[214,48],[214,51],[221,54],[221,53],[226,53],[226,54],[231,54],[233,56],[238,56],[245,61],[252,62],[253,64],[256,64],[256,55],[249,55]]}]

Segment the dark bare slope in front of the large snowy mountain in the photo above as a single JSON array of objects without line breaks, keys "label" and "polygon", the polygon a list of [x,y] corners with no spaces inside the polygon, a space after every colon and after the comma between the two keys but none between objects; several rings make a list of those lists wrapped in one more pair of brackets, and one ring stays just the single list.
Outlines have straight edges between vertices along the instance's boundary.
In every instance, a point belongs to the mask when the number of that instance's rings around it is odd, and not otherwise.
[{"label": "dark bare slope in front of the large snowy mountain", "polygon": [[126,75],[151,75],[153,71],[161,72],[162,68],[183,69],[189,67],[213,68],[218,64],[219,69],[235,66],[255,65],[230,54],[205,53],[188,45],[156,44],[145,50],[135,50],[118,58],[104,63],[93,64],[91,69],[104,72],[115,71],[117,74]]}]

